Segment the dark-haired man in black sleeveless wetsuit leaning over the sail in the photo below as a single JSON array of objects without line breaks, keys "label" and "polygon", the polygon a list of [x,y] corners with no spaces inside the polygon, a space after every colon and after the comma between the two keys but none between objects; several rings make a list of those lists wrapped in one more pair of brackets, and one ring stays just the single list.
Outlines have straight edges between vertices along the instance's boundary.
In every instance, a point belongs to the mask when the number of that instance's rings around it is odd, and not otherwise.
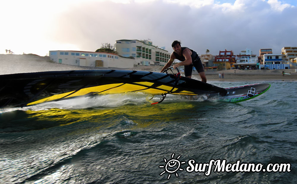
[{"label": "dark-haired man in black sleeveless wetsuit leaning over the sail", "polygon": [[201,81],[206,82],[204,68],[198,54],[192,49],[189,49],[187,47],[181,47],[181,42],[177,40],[173,41],[171,46],[173,52],[170,55],[170,59],[160,72],[163,72],[166,68],[170,67],[174,59],[178,59],[181,62],[173,65],[174,69],[179,66],[184,66],[185,77],[191,78],[193,66],[195,66],[196,70],[198,71],[198,74],[200,75]]}]

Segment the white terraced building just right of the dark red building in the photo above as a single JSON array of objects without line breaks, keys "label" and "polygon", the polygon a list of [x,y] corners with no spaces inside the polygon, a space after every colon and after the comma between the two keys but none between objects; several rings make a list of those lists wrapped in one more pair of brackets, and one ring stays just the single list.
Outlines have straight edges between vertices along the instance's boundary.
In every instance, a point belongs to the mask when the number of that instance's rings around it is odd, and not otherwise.
[{"label": "white terraced building just right of the dark red building", "polygon": [[236,56],[236,69],[257,69],[258,57],[253,54],[251,49],[241,50],[239,55]]}]

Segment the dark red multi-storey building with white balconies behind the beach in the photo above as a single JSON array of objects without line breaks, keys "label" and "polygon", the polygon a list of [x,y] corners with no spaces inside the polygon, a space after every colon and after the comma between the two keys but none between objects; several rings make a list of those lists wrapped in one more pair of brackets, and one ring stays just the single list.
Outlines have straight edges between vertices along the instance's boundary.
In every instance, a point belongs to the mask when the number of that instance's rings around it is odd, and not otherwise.
[{"label": "dark red multi-storey building with white balconies behind the beach", "polygon": [[233,51],[220,51],[219,55],[215,56],[213,66],[217,67],[218,70],[231,69],[231,65],[236,62]]}]

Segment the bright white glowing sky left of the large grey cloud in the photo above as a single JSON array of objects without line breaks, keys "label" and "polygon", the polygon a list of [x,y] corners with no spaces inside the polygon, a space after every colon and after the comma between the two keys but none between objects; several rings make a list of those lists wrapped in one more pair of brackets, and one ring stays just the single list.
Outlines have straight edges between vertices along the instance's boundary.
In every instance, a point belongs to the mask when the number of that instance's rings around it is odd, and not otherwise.
[{"label": "bright white glowing sky left of the large grey cloud", "polygon": [[[49,49],[77,49],[69,43],[53,43],[48,37],[51,32],[52,21],[61,12],[66,11],[69,3],[76,1],[3,1],[1,2],[0,16],[2,17],[0,35],[0,53],[5,49],[15,54],[39,54],[45,56]],[[59,4],[57,6],[57,4]],[[65,47],[66,46],[66,47]]]}]

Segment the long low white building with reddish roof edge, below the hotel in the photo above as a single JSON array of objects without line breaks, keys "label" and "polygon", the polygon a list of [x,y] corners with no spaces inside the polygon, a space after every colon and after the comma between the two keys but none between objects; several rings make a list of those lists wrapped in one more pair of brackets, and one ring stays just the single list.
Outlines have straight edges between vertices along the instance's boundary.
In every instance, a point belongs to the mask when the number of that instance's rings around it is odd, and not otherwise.
[{"label": "long low white building with reddish roof edge, below the hotel", "polygon": [[56,50],[49,51],[49,56],[52,61],[57,63],[102,69],[133,68],[138,65],[138,61],[135,59],[123,58],[118,54],[106,52]]}]

